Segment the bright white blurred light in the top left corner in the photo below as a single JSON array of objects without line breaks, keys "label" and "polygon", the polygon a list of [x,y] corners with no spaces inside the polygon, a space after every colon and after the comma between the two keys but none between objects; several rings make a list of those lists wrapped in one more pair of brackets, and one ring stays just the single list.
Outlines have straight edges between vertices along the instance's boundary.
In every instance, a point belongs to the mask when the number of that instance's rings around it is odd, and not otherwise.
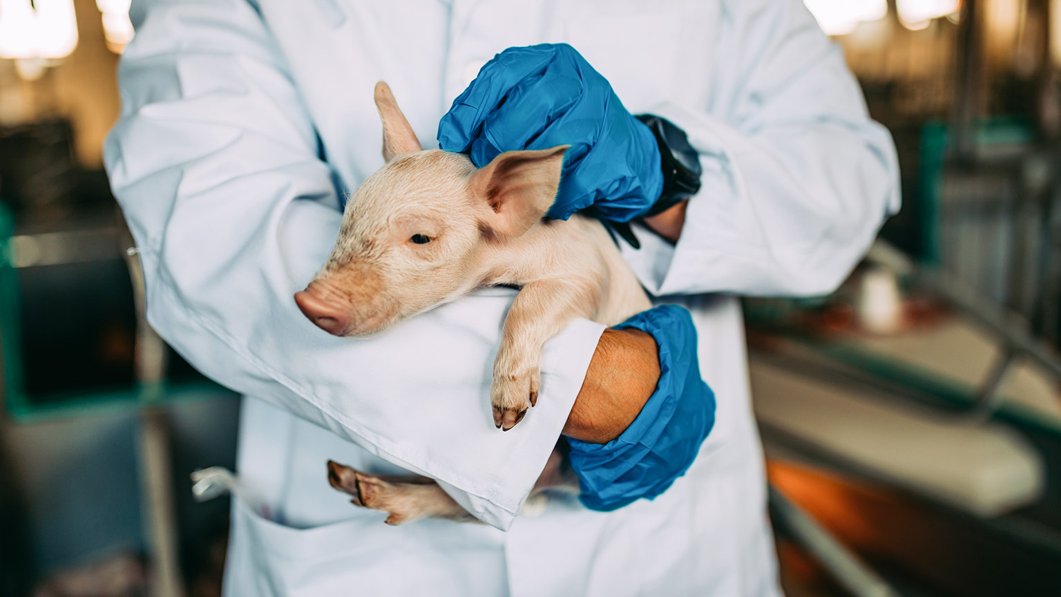
[{"label": "bright white blurred light in the top left corner", "polygon": [[0,0],[0,58],[63,58],[76,47],[73,0]]}]

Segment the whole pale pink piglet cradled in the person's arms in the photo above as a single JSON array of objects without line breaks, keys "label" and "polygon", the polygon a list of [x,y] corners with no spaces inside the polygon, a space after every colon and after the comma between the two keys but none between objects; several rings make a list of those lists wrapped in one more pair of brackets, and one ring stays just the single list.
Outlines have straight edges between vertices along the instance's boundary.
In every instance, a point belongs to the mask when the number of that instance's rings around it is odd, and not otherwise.
[{"label": "whole pale pink piglet cradled in the person's arms", "polygon": [[[651,305],[598,221],[542,219],[569,146],[505,152],[475,168],[464,154],[423,151],[386,83],[376,86],[376,105],[385,164],[347,202],[334,250],[295,302],[325,331],[356,336],[479,287],[519,287],[490,388],[493,423],[507,431],[538,399],[545,341],[573,319],[610,326]],[[557,457],[543,480],[558,476]],[[382,479],[329,463],[329,480],[354,504],[383,510],[366,494],[386,490],[394,524],[464,512],[430,479]],[[396,516],[398,501],[416,506]]]}]

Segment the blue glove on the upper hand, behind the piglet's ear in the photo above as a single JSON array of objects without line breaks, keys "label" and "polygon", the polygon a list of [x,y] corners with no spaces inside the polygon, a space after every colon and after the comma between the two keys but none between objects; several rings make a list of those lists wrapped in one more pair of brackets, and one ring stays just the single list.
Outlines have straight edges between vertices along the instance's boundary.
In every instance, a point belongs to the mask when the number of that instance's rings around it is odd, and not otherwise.
[{"label": "blue glove on the upper hand, behind the piglet's ear", "polygon": [[663,192],[656,137],[567,44],[495,55],[438,123],[438,147],[468,152],[480,168],[501,152],[564,144],[571,149],[550,218],[567,220],[592,205],[605,219],[627,222]]}]

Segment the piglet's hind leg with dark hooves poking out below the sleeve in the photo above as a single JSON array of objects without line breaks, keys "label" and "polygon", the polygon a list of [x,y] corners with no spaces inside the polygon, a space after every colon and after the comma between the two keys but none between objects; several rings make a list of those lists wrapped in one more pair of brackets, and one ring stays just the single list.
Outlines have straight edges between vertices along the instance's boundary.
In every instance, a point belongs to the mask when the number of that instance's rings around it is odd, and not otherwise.
[{"label": "piglet's hind leg with dark hooves poking out below the sleeve", "polygon": [[474,521],[442,488],[427,477],[385,477],[328,461],[328,482],[350,496],[354,506],[388,514],[384,523],[402,525],[420,518]]}]

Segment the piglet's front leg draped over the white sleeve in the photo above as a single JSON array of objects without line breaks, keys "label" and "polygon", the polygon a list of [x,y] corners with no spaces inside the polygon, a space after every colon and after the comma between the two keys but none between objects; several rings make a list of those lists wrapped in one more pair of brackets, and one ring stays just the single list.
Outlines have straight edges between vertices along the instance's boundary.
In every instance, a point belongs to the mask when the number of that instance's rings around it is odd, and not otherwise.
[{"label": "piglet's front leg draped over the white sleeve", "polygon": [[516,295],[493,361],[490,404],[498,428],[511,429],[537,404],[541,348],[568,322],[595,311],[594,287],[592,280],[544,279],[526,284]]}]

